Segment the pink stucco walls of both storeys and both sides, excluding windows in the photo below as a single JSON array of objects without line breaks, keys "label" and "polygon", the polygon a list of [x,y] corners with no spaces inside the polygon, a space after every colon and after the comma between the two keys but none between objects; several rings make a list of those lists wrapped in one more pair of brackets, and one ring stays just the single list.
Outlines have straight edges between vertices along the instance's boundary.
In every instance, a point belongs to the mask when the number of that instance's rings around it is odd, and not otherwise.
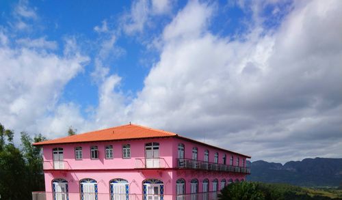
[{"label": "pink stucco walls of both storeys and both sides, excluding windows", "polygon": [[[144,158],[145,143],[158,142],[159,156],[166,161],[165,169],[135,169],[135,158]],[[43,158],[45,163],[51,162],[52,165],[52,149],[55,147],[62,147],[64,149],[64,161],[70,165],[71,170],[45,171],[45,186],[47,192],[52,192],[52,181],[56,178],[63,178],[68,181],[69,194],[75,197],[70,199],[79,199],[79,181],[83,178],[91,178],[98,182],[98,193],[109,193],[109,181],[115,178],[122,178],[129,182],[131,194],[142,194],[142,182],[146,179],[154,178],[161,180],[164,183],[164,194],[176,194],[176,180],[183,178],[185,180],[185,191],[190,193],[190,181],[193,178],[198,179],[198,191],[202,192],[202,181],[205,178],[209,179],[209,191],[212,190],[212,180],[218,179],[218,188],[220,188],[220,181],[226,179],[245,179],[243,173],[227,173],[218,171],[195,171],[195,170],[179,170],[176,169],[176,158],[178,156],[178,144],[185,145],[185,158],[192,158],[192,148],[198,147],[198,160],[204,160],[205,149],[209,150],[209,162],[214,161],[215,152],[219,153],[219,163],[222,163],[222,156],[226,154],[226,164],[229,165],[230,156],[234,156],[234,165],[237,154],[215,149],[214,147],[207,147],[199,143],[191,141],[184,141],[176,138],[164,139],[141,139],[131,141],[110,141],[110,142],[94,142],[94,143],[74,143],[64,145],[44,145]],[[122,145],[131,145],[131,158],[122,158]],[[98,146],[99,158],[96,160],[90,159],[90,147]],[[105,145],[113,145],[114,158],[105,159]],[[75,147],[82,147],[83,159],[75,160]],[[244,156],[239,156],[240,166],[242,167],[242,159]],[[77,196],[77,197],[76,197]],[[101,197],[101,195],[99,195]],[[108,196],[105,195],[104,199]],[[49,198],[48,198],[49,199]],[[52,198],[51,198],[52,199]],[[101,199],[101,198],[99,198]]]}]

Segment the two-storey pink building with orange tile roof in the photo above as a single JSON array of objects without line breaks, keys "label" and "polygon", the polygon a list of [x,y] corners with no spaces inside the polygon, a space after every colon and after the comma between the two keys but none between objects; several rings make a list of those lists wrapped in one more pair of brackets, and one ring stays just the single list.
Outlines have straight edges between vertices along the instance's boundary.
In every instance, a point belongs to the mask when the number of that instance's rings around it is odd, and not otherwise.
[{"label": "two-storey pink building with orange tile roof", "polygon": [[133,124],[34,145],[47,199],[215,199],[250,173],[250,156]]}]

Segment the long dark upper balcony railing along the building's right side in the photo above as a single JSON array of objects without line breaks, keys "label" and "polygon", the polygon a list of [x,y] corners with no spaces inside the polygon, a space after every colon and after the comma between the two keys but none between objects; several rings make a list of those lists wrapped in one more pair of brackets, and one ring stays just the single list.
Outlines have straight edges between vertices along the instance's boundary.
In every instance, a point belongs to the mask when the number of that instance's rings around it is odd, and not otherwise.
[{"label": "long dark upper balcony railing along the building's right side", "polygon": [[215,162],[205,162],[201,160],[192,160],[187,158],[177,158],[177,167],[179,169],[202,169],[209,171],[228,171],[235,173],[250,173],[246,167],[237,167],[231,165],[218,164]]}]

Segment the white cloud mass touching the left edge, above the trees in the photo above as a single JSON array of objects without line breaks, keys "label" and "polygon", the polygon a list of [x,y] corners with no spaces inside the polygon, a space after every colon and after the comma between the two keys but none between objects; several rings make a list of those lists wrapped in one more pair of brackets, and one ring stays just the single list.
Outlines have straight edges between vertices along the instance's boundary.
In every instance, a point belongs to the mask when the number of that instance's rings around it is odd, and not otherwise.
[{"label": "white cloud mass touching the left edge, above the trees", "polygon": [[[66,44],[66,48],[70,46],[70,42]],[[59,56],[25,46],[0,46],[1,123],[17,131],[44,130],[47,125],[39,122],[54,112],[64,86],[88,61],[78,52],[66,52]]]}]

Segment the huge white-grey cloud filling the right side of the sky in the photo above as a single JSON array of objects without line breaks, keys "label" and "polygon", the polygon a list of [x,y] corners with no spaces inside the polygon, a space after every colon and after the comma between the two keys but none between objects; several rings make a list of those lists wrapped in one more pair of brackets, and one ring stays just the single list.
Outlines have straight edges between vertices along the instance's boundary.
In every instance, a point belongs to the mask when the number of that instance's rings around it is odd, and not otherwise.
[{"label": "huge white-grey cloud filling the right side of the sky", "polygon": [[229,40],[208,31],[211,5],[188,3],[163,31],[160,60],[129,106],[132,121],[210,137],[254,159],[338,157],[339,4],[298,3],[278,29],[253,26]]}]

